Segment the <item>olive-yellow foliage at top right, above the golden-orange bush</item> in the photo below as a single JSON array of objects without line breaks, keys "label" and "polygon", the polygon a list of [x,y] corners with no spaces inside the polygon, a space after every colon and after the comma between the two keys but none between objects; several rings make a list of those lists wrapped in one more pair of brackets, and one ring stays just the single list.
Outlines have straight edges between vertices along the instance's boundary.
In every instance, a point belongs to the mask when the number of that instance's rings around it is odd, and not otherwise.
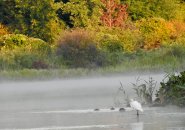
[{"label": "olive-yellow foliage at top right, above the golden-orange bush", "polygon": [[124,0],[124,2],[129,5],[128,13],[132,20],[150,17],[170,20],[176,18],[181,10],[178,0]]}]

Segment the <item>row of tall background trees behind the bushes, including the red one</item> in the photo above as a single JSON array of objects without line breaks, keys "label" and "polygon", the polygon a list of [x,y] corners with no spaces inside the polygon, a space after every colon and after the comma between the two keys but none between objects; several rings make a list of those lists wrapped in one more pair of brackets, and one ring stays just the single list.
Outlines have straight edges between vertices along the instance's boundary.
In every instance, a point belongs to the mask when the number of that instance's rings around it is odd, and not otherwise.
[{"label": "row of tall background trees behind the bushes, including the red one", "polygon": [[66,28],[123,27],[150,17],[184,20],[183,11],[183,0],[1,0],[0,23],[52,42]]}]

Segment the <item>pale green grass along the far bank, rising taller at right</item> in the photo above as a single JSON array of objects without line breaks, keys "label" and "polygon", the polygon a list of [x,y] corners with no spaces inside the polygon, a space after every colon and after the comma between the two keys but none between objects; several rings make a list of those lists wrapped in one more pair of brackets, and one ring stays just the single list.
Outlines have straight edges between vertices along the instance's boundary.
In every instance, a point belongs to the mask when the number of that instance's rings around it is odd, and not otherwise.
[{"label": "pale green grass along the far bank, rising taller at right", "polygon": [[[178,48],[175,48],[178,49]],[[122,55],[119,64],[99,68],[20,69],[0,71],[0,80],[44,80],[69,77],[86,77],[134,72],[170,72],[185,69],[185,53],[173,48],[163,48],[151,52]],[[183,52],[182,52],[183,51]]]}]

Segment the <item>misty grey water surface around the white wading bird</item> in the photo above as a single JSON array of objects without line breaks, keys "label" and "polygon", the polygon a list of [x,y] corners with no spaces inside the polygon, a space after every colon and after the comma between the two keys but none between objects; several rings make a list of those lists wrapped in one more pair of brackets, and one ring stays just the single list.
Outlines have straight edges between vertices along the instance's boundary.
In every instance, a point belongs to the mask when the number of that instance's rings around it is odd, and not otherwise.
[{"label": "misty grey water surface around the white wading bird", "polygon": [[[138,76],[1,83],[0,130],[185,130],[182,108],[144,106],[139,118],[129,108],[110,110],[120,81],[135,97],[131,83]],[[149,76],[164,77],[140,78]]]}]

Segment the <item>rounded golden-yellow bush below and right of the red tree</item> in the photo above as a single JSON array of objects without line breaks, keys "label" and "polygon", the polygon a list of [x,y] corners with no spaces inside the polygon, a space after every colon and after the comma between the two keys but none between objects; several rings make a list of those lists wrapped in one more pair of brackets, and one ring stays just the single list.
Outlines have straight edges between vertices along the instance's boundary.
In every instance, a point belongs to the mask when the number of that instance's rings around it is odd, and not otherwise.
[{"label": "rounded golden-yellow bush below and right of the red tree", "polygon": [[170,40],[175,31],[171,23],[161,18],[142,19],[136,25],[143,36],[142,48],[146,50],[161,47],[164,41]]}]

